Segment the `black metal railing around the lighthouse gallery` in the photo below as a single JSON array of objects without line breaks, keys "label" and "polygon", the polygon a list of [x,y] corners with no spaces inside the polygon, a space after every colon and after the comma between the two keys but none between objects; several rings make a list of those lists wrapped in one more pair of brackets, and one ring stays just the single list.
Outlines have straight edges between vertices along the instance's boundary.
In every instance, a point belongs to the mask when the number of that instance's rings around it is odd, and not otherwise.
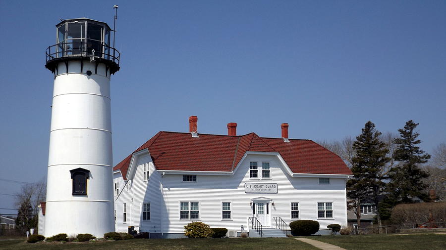
[{"label": "black metal railing around the lighthouse gallery", "polygon": [[102,58],[119,66],[120,53],[115,48],[97,41],[74,41],[60,42],[51,46],[45,51],[46,62],[67,57],[90,57]]}]

